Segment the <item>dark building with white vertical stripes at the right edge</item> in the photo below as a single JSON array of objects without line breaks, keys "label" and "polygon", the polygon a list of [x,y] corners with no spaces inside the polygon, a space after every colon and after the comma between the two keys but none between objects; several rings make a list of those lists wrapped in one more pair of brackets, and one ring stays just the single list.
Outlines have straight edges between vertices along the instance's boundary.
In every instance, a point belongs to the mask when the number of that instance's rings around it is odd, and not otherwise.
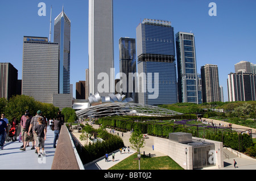
[{"label": "dark building with white vertical stripes at the right edge", "polygon": [[229,102],[256,100],[256,74],[230,73],[227,82]]}]

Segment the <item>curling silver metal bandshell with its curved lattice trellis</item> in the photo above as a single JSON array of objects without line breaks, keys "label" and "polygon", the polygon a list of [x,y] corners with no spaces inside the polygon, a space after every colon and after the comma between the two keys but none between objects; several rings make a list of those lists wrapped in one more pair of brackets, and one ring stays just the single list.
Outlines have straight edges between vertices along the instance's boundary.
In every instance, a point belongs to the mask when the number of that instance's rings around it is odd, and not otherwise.
[{"label": "curling silver metal bandshell with its curved lattice trellis", "polygon": [[133,103],[133,99],[121,94],[109,94],[101,97],[99,94],[89,96],[86,105],[73,105],[77,117],[106,117],[106,116],[174,116],[183,115],[157,106]]}]

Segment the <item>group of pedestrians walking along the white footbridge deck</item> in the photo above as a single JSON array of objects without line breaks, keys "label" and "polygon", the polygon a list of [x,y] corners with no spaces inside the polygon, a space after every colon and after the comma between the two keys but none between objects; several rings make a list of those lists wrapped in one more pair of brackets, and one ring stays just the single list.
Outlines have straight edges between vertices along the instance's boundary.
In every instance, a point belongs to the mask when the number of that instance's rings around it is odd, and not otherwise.
[{"label": "group of pedestrians walking along the white footbridge deck", "polygon": [[[53,121],[51,120],[50,129],[54,131],[55,138],[53,141],[53,148],[56,148],[56,142],[59,138],[59,133],[61,125],[64,124],[64,116],[61,115],[61,112],[58,112],[57,118]],[[2,113],[0,119],[0,149],[3,149],[5,144],[6,135],[8,131],[9,120],[5,118],[5,114]],[[11,127],[14,127],[15,130],[18,127],[18,121],[14,117],[11,121]],[[27,147],[30,146],[32,142],[31,150],[35,150],[35,153],[38,154],[38,157],[46,155],[44,151],[44,142],[47,138],[47,119],[42,116],[42,111],[38,110],[35,116],[32,116],[30,112],[25,111],[24,115],[20,119],[21,132],[20,136],[22,139],[22,146],[20,150],[26,151]],[[16,138],[16,135],[14,136]],[[40,150],[42,149],[42,150]]]}]

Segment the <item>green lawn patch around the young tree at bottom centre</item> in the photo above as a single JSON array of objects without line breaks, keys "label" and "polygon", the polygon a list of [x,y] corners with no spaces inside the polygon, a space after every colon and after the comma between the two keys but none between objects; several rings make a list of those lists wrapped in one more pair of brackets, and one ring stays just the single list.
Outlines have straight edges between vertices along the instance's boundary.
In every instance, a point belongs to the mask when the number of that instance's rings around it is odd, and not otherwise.
[{"label": "green lawn patch around the young tree at bottom centre", "polygon": [[[109,170],[139,170],[139,162],[137,154],[134,153],[130,157],[117,163],[117,165],[111,167]],[[147,157],[141,156],[141,170],[184,170],[170,157]]]}]

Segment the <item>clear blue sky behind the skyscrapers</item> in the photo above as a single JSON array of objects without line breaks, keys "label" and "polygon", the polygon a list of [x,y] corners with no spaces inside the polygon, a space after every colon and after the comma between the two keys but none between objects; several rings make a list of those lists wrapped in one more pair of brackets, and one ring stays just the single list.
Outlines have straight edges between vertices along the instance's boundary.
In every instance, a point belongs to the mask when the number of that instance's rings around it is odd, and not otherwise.
[{"label": "clear blue sky behind the skyscrapers", "polygon": [[[40,2],[46,3],[46,16],[38,15]],[[209,16],[210,2],[216,3],[217,16]],[[13,64],[22,79],[23,36],[49,37],[51,5],[52,22],[63,5],[71,19],[71,83],[75,90],[88,68],[88,1],[1,1],[0,62]],[[224,100],[228,101],[226,79],[234,72],[234,64],[256,64],[255,7],[254,0],[114,0],[115,70],[119,71],[120,37],[136,38],[136,27],[144,18],[169,20],[175,33],[195,33],[197,70],[200,73],[205,64],[218,65]]]}]

